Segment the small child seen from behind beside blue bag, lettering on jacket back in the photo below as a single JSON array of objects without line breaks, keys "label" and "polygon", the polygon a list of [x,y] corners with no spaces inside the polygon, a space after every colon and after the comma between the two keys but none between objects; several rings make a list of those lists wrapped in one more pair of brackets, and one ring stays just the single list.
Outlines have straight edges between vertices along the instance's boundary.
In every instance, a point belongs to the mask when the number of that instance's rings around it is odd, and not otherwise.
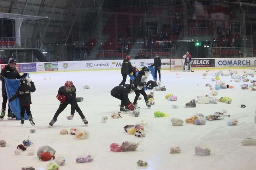
[{"label": "small child seen from behind beside blue bag, lettering on jacket back", "polygon": [[35,84],[34,82],[31,81],[30,78],[28,78],[28,80],[26,78],[20,78],[20,81],[19,81],[20,86],[18,87],[16,93],[9,99],[9,103],[13,101],[15,98],[19,98],[20,118],[21,118],[20,124],[22,126],[24,124],[24,116],[26,111],[29,117],[29,122],[31,123],[32,126],[35,126],[35,123],[33,122],[33,117],[30,111],[30,104],[32,104],[30,93],[35,92]]}]

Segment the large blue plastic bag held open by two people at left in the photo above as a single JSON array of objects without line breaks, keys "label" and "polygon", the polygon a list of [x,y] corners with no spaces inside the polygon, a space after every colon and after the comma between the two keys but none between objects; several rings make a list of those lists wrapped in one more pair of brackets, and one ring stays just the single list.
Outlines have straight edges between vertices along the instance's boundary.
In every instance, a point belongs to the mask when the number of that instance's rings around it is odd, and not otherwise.
[{"label": "large blue plastic bag held open by two people at left", "polygon": [[[29,76],[29,74],[27,76]],[[5,89],[6,89],[8,99],[10,99],[17,91],[18,87],[20,86],[19,81],[20,81],[20,79],[10,80],[8,78],[5,78]],[[16,116],[16,120],[20,120],[19,98],[16,98],[15,100],[11,101],[11,103],[9,103],[9,105],[10,105],[12,113]],[[25,114],[24,118],[29,119],[27,114]]]}]

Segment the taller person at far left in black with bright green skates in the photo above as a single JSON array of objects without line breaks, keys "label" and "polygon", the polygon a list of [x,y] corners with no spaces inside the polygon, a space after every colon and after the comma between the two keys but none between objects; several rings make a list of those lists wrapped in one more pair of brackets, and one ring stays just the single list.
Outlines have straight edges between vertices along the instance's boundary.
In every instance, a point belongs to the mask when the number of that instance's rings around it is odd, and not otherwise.
[{"label": "taller person at far left in black with bright green skates", "polygon": [[[2,81],[2,96],[3,96],[2,113],[0,115],[0,120],[3,120],[5,117],[6,103],[8,100],[6,89],[5,89],[5,78],[13,80],[13,79],[23,78],[27,75],[27,73],[20,75],[20,73],[17,71],[15,65],[16,65],[16,59],[10,58],[8,60],[8,65],[5,66],[5,68],[3,68],[0,73],[0,80]],[[8,104],[8,119],[16,120],[16,116],[11,112],[9,104]]]}]

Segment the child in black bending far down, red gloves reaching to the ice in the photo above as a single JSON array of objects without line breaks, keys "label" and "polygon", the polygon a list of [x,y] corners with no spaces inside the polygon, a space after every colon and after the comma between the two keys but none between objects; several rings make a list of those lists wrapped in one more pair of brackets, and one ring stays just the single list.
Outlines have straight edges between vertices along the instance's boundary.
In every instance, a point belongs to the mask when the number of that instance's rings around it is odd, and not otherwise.
[{"label": "child in black bending far down, red gloves reaching to the ice", "polygon": [[[134,110],[134,104],[130,102],[128,98],[129,93],[133,93],[135,90],[135,87],[133,84],[124,84],[123,86],[115,86],[110,94],[114,98],[117,98],[121,101],[120,106],[120,112],[129,112],[130,110]],[[127,107],[128,109],[125,109],[124,107]]]}]

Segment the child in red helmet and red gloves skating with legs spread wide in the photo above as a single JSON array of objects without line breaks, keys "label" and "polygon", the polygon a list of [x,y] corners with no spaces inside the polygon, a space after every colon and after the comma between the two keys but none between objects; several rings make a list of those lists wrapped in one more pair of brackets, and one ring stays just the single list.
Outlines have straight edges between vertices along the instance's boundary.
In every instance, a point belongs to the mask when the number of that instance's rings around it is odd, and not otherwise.
[{"label": "child in red helmet and red gloves skating with legs spread wide", "polygon": [[75,114],[75,111],[78,112],[78,114],[81,116],[82,121],[84,124],[88,124],[88,121],[86,120],[82,110],[79,108],[77,104],[77,98],[76,98],[76,89],[72,81],[66,81],[65,86],[61,86],[58,91],[58,95],[56,98],[60,101],[59,108],[56,111],[56,113],[53,116],[53,119],[49,123],[49,128],[53,126],[53,124],[57,121],[57,117],[59,114],[68,106],[68,104],[71,105],[71,112],[70,116],[67,117],[67,119],[72,120]]}]

